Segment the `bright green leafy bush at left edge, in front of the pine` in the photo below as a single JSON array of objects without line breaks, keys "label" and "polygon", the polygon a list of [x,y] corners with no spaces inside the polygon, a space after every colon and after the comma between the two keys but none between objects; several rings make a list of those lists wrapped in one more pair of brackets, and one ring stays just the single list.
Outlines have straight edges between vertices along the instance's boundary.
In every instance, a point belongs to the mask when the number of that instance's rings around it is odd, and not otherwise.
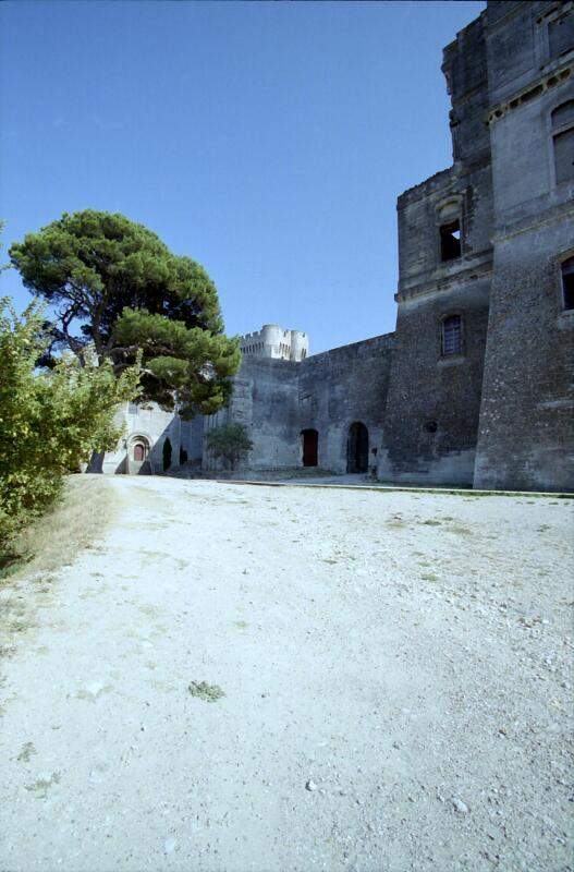
[{"label": "bright green leafy bush at left edge, in front of the pine", "polygon": [[0,300],[0,547],[58,497],[66,472],[93,449],[111,450],[121,431],[118,403],[138,393],[138,364],[118,377],[98,365],[89,347],[82,365],[70,352],[51,371],[38,373],[45,351],[42,313],[33,303],[17,316]]}]

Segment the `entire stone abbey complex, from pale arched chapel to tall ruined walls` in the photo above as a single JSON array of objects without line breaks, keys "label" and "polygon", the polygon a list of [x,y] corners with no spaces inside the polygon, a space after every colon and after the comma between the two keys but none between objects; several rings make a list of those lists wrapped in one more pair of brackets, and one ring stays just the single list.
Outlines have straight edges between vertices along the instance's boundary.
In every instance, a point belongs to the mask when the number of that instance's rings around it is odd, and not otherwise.
[{"label": "entire stone abbey complex, from pale arched chapel to tall ruined walls", "polygon": [[309,356],[277,325],[243,337],[229,409],[155,437],[135,410],[124,471],[167,438],[212,468],[203,432],[233,420],[248,468],[574,491],[574,3],[488,2],[442,70],[453,165],[399,197],[395,331]]}]

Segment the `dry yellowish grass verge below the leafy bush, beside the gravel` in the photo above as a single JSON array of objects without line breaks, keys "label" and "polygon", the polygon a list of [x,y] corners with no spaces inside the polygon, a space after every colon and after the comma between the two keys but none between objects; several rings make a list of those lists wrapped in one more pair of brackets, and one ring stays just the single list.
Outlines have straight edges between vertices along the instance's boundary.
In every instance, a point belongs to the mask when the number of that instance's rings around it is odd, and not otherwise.
[{"label": "dry yellowish grass verge below the leafy bush, beside the gravel", "polygon": [[70,475],[62,499],[19,536],[15,560],[0,570],[0,581],[70,565],[102,535],[115,505],[115,492],[102,475]]}]

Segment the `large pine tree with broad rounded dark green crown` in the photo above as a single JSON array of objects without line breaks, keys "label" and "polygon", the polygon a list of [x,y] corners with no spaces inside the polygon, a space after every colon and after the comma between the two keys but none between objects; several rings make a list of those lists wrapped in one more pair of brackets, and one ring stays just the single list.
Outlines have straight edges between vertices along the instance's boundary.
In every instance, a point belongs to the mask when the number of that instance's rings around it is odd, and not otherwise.
[{"label": "large pine tree with broad rounded dark green crown", "polygon": [[142,225],[103,211],[64,214],[10,247],[26,288],[54,312],[41,363],[93,346],[117,375],[142,351],[142,399],[183,417],[211,414],[231,391],[239,343],[223,335],[216,286]]}]

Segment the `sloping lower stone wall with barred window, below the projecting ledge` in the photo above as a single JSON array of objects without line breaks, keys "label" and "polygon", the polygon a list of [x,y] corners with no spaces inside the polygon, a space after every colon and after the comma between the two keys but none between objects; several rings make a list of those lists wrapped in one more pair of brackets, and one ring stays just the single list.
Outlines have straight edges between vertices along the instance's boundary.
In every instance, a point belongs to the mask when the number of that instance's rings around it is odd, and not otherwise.
[{"label": "sloping lower stone wall with barred window, below the projecting ledge", "polygon": [[[480,409],[489,277],[459,279],[399,308],[379,479],[471,485]],[[463,354],[441,356],[442,318],[463,317]]]}]

